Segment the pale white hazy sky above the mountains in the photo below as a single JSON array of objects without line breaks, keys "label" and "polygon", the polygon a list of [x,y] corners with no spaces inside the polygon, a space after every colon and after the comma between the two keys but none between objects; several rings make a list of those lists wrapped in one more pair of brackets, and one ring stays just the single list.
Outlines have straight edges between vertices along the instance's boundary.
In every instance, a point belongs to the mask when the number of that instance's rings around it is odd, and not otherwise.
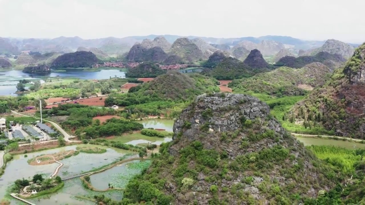
[{"label": "pale white hazy sky above the mountains", "polygon": [[364,0],[0,0],[0,36],[285,35],[362,43],[364,8]]}]

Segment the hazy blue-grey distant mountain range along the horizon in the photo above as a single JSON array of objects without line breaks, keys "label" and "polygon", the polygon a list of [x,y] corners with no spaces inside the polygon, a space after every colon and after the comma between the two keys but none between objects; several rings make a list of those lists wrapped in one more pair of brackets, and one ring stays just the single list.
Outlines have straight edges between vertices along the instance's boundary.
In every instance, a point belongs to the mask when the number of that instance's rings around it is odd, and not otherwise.
[{"label": "hazy blue-grey distant mountain range along the horizon", "polygon": [[[207,54],[213,53],[215,49],[225,50],[228,47],[234,47],[239,45],[241,42],[249,41],[258,45],[255,47],[260,50],[260,45],[263,45],[267,42],[276,42],[275,50],[285,48],[292,49],[316,49],[324,45],[326,41],[312,41],[312,40],[301,40],[297,38],[292,38],[290,36],[261,36],[261,37],[242,37],[242,38],[211,38],[211,37],[199,37],[199,36],[178,36],[178,35],[148,35],[148,36],[127,36],[124,38],[115,38],[115,37],[107,37],[107,38],[99,38],[99,39],[82,39],[78,36],[75,37],[65,37],[61,36],[54,39],[16,39],[16,38],[0,38],[0,55],[4,54],[20,54],[21,50],[31,50],[33,52],[58,52],[58,53],[69,53],[72,51],[76,51],[78,47],[88,47],[88,48],[98,48],[107,54],[123,54],[129,51],[129,49],[137,42],[142,43],[143,40],[149,39],[153,40],[155,38],[164,37],[166,42],[162,42],[162,44],[166,45],[166,43],[173,43],[178,38],[186,37],[193,42],[199,44],[200,40],[203,40],[206,43],[211,44],[210,48],[205,45],[207,48]],[[199,39],[199,40],[198,40]],[[164,39],[162,39],[164,40]],[[264,42],[263,42],[264,41]],[[149,42],[144,42],[149,43]],[[156,44],[158,45],[158,44]],[[359,45],[350,44],[353,47],[357,47]],[[202,47],[198,45],[198,47]],[[223,49],[225,48],[225,49]],[[168,47],[162,48],[166,51]],[[242,49],[241,49],[242,50]],[[250,50],[250,49],[248,49]],[[239,52],[238,52],[239,53]],[[241,51],[242,53],[242,51]],[[273,54],[272,51],[262,51],[265,53]]]}]

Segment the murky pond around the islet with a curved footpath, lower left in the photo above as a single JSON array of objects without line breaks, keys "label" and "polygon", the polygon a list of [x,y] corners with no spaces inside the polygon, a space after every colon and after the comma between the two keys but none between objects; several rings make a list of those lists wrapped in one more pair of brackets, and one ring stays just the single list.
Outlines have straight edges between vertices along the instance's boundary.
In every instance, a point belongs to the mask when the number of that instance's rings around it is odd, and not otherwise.
[{"label": "murky pond around the islet with a curved footpath, lower left", "polygon": [[[97,146],[97,145],[85,145],[80,144],[77,145],[79,147],[99,147],[99,148],[106,148],[107,152],[104,154],[87,154],[81,152],[80,154],[76,156],[71,156],[70,158],[65,158],[60,160],[60,162],[64,163],[64,166],[61,167],[61,169],[58,172],[58,175],[61,178],[66,177],[72,177],[81,174],[82,171],[89,171],[93,168],[97,168],[103,165],[108,165],[112,162],[114,162],[116,159],[120,158],[121,156],[131,153],[124,150],[119,149],[112,149],[107,148],[105,146]],[[13,160],[7,163],[7,167],[5,169],[5,172],[3,176],[1,176],[0,179],[0,199],[5,196],[6,189],[8,186],[12,185],[12,183],[16,179],[30,179],[34,174],[45,174],[46,177],[51,176],[53,174],[54,170],[58,166],[57,163],[52,163],[49,165],[39,165],[39,166],[32,166],[27,163],[28,159],[31,159],[35,156],[41,155],[41,154],[53,154],[55,152],[62,152],[67,150],[76,150],[76,145],[73,146],[67,146],[67,147],[61,147],[56,148],[52,150],[45,150],[40,152],[34,152],[34,153],[28,153],[28,157],[24,157],[24,155],[15,155]],[[76,178],[78,181],[80,181],[79,178]],[[68,183],[68,181],[66,181]],[[65,188],[63,188],[65,190]],[[59,192],[59,194],[62,194],[62,192]],[[58,195],[58,194],[57,194]],[[52,196],[52,198],[57,198]],[[58,203],[65,204],[68,201],[62,201],[64,200],[64,197],[58,197]],[[15,202],[18,202],[17,200],[12,199],[12,204]],[[36,203],[37,205],[41,204],[39,202]],[[51,203],[54,204],[54,203]]]}]

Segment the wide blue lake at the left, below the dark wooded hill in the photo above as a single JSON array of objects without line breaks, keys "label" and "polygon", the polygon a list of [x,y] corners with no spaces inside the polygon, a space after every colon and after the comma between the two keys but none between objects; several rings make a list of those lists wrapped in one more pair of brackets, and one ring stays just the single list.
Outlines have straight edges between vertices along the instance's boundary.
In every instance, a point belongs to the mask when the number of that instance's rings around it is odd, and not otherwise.
[{"label": "wide blue lake at the left, below the dark wooded hill", "polygon": [[21,70],[9,70],[9,71],[0,71],[0,96],[11,95],[17,96],[14,94],[16,92],[16,84],[18,84],[19,80],[41,80],[45,77],[57,77],[60,78],[80,78],[82,80],[102,80],[109,79],[110,77],[119,77],[125,78],[125,72],[119,70],[100,70],[100,71],[82,71],[81,69],[62,69],[65,72],[51,70],[51,73],[23,73]]}]

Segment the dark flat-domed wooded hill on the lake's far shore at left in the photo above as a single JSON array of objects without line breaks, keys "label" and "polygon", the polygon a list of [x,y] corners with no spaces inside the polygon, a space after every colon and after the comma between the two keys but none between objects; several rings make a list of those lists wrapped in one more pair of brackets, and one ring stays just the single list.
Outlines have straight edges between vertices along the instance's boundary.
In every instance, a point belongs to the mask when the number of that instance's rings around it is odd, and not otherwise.
[{"label": "dark flat-domed wooded hill on the lake's far shore at left", "polygon": [[57,57],[51,64],[51,68],[67,68],[67,67],[91,67],[100,60],[90,51],[76,51],[74,53],[66,53]]}]

